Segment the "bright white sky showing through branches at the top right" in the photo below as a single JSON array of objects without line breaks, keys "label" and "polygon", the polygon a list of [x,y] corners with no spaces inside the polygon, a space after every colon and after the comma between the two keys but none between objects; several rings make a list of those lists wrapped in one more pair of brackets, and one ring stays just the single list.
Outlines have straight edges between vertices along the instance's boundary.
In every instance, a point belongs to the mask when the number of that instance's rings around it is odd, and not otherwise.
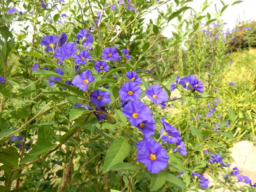
[{"label": "bright white sky showing through branches at the top right", "polygon": [[[224,3],[230,4],[230,6],[227,7],[227,9],[224,11],[224,14],[221,16],[221,19],[224,20],[224,22],[228,23],[224,29],[233,29],[236,26],[236,21],[241,20],[241,21],[247,21],[247,20],[256,20],[256,0],[244,0],[244,2],[236,4],[231,6],[233,2],[236,0],[223,0]],[[208,2],[211,2],[208,0]],[[195,9],[196,12],[200,12],[200,7],[204,3],[204,0],[194,0],[194,2],[189,2],[188,6],[192,7]],[[220,0],[212,0],[212,4],[204,11],[204,13],[209,12],[209,13],[216,13],[215,12],[215,4],[217,6],[217,10],[221,10],[223,5],[221,4]],[[162,5],[159,7],[159,10],[166,12],[166,6]],[[189,15],[190,10],[186,11],[186,14]],[[149,19],[156,19],[158,17],[158,12],[157,10],[152,11],[148,15],[145,16],[145,21],[146,23],[149,23]],[[240,19],[239,19],[240,18]],[[163,32],[163,35],[166,37],[171,37],[172,31],[174,29],[173,26],[168,26],[165,31]]]}]

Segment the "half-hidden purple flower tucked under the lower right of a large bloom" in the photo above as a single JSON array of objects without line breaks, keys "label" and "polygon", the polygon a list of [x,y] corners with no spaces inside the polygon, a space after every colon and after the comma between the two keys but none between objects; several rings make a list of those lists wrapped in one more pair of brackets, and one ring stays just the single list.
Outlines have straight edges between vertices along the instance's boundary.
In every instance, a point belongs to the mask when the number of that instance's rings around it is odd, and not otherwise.
[{"label": "half-hidden purple flower tucked under the lower right of a large bloom", "polygon": [[150,137],[154,134],[156,128],[155,120],[151,116],[151,119],[139,123],[136,127],[143,133],[144,138]]}]

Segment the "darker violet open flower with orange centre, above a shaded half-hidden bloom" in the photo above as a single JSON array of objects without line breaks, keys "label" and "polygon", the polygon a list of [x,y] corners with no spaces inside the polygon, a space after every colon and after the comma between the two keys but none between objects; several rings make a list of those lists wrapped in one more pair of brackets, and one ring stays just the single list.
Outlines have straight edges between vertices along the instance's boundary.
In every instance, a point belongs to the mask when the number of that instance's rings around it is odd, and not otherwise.
[{"label": "darker violet open flower with orange centre, above a shaded half-hidden bloom", "polygon": [[111,102],[110,93],[94,90],[93,93],[90,94],[90,101],[98,108],[102,105],[108,105]]}]

